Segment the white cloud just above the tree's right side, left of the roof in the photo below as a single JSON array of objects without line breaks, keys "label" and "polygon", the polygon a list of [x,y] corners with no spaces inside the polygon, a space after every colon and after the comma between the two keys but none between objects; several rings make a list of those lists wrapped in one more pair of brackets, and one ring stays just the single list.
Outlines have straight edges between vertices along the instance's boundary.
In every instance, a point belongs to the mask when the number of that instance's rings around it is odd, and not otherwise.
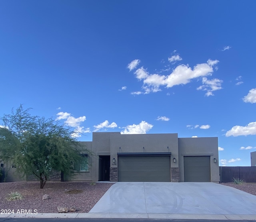
[{"label": "white cloud just above the tree's right side, left of the roof", "polygon": [[81,137],[80,134],[82,133],[90,133],[90,128],[84,129],[83,126],[80,126],[80,124],[86,120],[85,116],[74,118],[68,112],[58,112],[56,120],[65,120],[64,123],[67,126],[75,128],[73,134],[71,135],[72,137],[78,138]]}]

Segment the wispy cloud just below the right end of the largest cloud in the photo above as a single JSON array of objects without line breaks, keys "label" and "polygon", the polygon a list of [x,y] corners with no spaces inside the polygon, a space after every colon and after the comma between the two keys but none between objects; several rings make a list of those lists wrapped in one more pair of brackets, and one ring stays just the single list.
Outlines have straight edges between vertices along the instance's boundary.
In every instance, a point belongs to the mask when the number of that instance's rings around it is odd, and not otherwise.
[{"label": "wispy cloud just below the right end of the largest cloud", "polygon": [[202,84],[197,90],[207,90],[206,96],[213,96],[214,94],[212,93],[213,91],[220,90],[222,89],[221,83],[223,83],[222,80],[220,79],[212,79],[208,80],[206,77],[202,78]]}]

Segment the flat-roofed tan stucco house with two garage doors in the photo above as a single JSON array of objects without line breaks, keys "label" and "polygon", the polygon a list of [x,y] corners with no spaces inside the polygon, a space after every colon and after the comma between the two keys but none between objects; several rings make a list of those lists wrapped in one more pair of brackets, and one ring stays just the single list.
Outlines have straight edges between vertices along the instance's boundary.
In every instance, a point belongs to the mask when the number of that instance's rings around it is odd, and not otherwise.
[{"label": "flat-roofed tan stucco house with two garage doors", "polygon": [[94,132],[81,143],[95,155],[84,153],[72,180],[219,183],[217,137]]}]

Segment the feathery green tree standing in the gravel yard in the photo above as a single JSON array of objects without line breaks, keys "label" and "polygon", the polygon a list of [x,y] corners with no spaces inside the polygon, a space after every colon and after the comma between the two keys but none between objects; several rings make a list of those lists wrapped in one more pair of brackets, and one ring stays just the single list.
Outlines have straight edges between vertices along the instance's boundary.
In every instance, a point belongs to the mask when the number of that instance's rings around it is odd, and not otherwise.
[{"label": "feathery green tree standing in the gravel yard", "polygon": [[0,156],[24,174],[34,174],[42,189],[51,170],[70,174],[81,160],[81,147],[74,132],[53,119],[32,116],[20,105],[0,118]]}]

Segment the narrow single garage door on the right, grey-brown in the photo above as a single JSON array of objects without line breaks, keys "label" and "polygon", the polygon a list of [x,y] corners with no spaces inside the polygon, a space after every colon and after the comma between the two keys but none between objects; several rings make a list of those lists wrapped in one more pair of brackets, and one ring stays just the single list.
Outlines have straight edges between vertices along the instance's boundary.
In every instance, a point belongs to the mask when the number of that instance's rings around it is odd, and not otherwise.
[{"label": "narrow single garage door on the right, grey-brown", "polygon": [[210,156],[184,156],[185,182],[210,182]]}]

